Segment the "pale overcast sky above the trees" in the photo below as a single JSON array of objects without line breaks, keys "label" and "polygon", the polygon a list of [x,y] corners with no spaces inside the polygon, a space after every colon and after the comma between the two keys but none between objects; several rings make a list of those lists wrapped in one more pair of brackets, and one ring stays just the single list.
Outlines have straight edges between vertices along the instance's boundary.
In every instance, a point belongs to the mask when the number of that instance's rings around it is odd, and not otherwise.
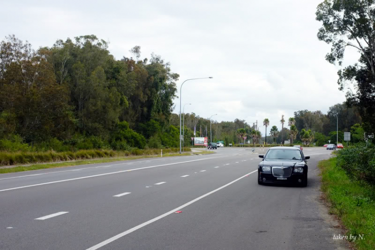
[{"label": "pale overcast sky above the trees", "polygon": [[338,68],[324,59],[330,46],[316,38],[320,2],[3,0],[0,37],[14,34],[37,49],[94,34],[116,59],[138,45],[141,58],[153,52],[170,62],[178,95],[184,80],[213,77],[183,85],[186,113],[258,125],[268,118],[280,129],[282,114],[287,121],[298,110],[326,113],[345,100]]}]

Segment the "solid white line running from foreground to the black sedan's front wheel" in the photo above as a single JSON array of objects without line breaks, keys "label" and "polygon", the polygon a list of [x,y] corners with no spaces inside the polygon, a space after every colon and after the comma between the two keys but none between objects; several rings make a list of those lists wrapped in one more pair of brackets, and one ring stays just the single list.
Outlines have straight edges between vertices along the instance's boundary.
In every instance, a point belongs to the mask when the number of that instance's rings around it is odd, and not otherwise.
[{"label": "solid white line running from foreground to the black sedan's front wheel", "polygon": [[247,174],[245,174],[245,175],[243,175],[243,176],[241,176],[241,177],[239,177],[239,178],[237,178],[237,179],[235,179],[235,180],[233,180],[233,181],[231,181],[231,182],[229,182],[229,183],[227,183],[227,184],[225,184],[225,185],[223,185],[221,187],[216,188],[215,190],[212,190],[212,191],[210,191],[210,192],[208,192],[206,194],[203,194],[202,196],[199,196],[199,197],[197,197],[197,198],[195,198],[193,200],[190,200],[189,202],[187,202],[187,203],[185,203],[185,204],[183,204],[183,205],[181,205],[179,207],[176,207],[176,208],[170,210],[169,212],[161,214],[161,215],[159,215],[159,216],[157,216],[157,217],[155,217],[153,219],[150,219],[150,220],[148,220],[146,222],[143,222],[142,224],[134,226],[133,228],[130,228],[130,229],[128,229],[128,230],[126,230],[124,232],[121,232],[121,233],[119,233],[119,234],[117,234],[117,235],[115,235],[113,237],[110,237],[110,238],[108,238],[108,239],[106,239],[106,240],[104,240],[104,241],[102,241],[102,242],[100,242],[100,243],[98,243],[98,244],[96,244],[94,246],[91,246],[90,248],[87,248],[86,250],[95,250],[95,249],[98,249],[98,248],[100,248],[100,247],[102,247],[104,245],[107,245],[110,242],[112,242],[112,241],[114,241],[116,239],[119,239],[119,238],[125,236],[126,234],[129,234],[129,233],[131,233],[131,232],[133,232],[135,230],[138,230],[139,228],[142,228],[143,226],[151,224],[152,222],[155,222],[155,221],[157,221],[157,220],[159,220],[159,219],[161,219],[161,218],[163,218],[163,217],[165,217],[165,216],[167,216],[167,215],[169,215],[171,213],[174,213],[177,210],[181,210],[182,208],[184,208],[184,207],[186,207],[186,206],[188,206],[188,205],[190,205],[190,204],[192,204],[192,203],[194,203],[194,202],[196,202],[196,201],[198,201],[198,200],[200,200],[200,199],[202,199],[202,198],[204,198],[204,197],[206,197],[206,196],[208,196],[208,195],[210,195],[210,194],[212,194],[214,192],[217,192],[218,190],[223,189],[224,187],[227,187],[230,184],[233,184],[234,182],[237,182],[238,180],[244,178],[246,175],[252,174],[252,173],[257,172],[257,171],[258,170],[254,170],[254,171],[252,171],[250,173],[247,173]]}]

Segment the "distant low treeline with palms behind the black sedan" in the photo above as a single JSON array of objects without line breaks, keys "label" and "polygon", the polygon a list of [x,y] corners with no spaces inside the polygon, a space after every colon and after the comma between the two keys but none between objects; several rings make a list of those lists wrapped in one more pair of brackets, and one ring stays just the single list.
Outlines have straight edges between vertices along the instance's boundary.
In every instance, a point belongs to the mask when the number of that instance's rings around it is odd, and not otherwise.
[{"label": "distant low treeline with palms behind the black sedan", "polygon": [[[328,143],[336,143],[336,129],[338,118],[338,142],[343,143],[343,133],[351,132],[349,143],[363,142],[362,119],[358,107],[348,106],[346,103],[336,104],[329,107],[328,112],[323,114],[321,111],[300,110],[294,112],[293,117],[280,117],[279,121],[269,121],[265,118],[256,124],[248,124],[245,120],[235,119],[231,121],[212,121],[212,141],[224,141],[225,145],[229,143],[243,143],[243,137],[246,137],[245,143],[250,140],[251,144],[263,144],[265,142],[265,124],[267,124],[267,144],[282,144],[289,140],[292,144],[309,145],[315,143],[316,146],[323,146]],[[179,116],[172,114],[170,123],[174,126],[179,125]],[[195,115],[186,113],[184,115],[184,146],[191,145],[190,137],[193,137],[194,127],[196,136],[207,136],[210,138],[210,122]],[[283,127],[281,130],[276,125]],[[282,131],[282,132],[281,132]]]}]

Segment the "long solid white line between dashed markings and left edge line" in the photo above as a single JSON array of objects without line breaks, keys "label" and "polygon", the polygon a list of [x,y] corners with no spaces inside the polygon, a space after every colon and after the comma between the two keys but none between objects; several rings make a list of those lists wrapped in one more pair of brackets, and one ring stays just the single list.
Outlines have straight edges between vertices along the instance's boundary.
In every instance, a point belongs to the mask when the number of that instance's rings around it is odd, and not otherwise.
[{"label": "long solid white line between dashed markings and left edge line", "polygon": [[190,161],[180,161],[180,162],[167,163],[167,164],[155,165],[155,166],[148,166],[148,167],[139,167],[139,168],[133,168],[133,169],[128,169],[128,170],[121,170],[121,171],[109,172],[109,173],[103,173],[103,174],[88,175],[88,176],[71,178],[71,179],[65,179],[65,180],[56,180],[56,181],[38,183],[38,184],[27,185],[27,186],[11,187],[11,188],[6,188],[6,189],[1,189],[0,192],[9,191],[9,190],[15,190],[15,189],[20,189],[20,188],[26,188],[26,187],[34,187],[34,186],[41,186],[41,185],[47,185],[47,184],[53,184],[53,183],[71,181],[71,180],[81,180],[81,179],[92,178],[92,177],[97,177],[97,176],[104,176],[104,175],[109,175],[109,174],[124,173],[124,172],[129,172],[129,171],[140,170],[140,169],[147,169],[147,168],[154,168],[154,167],[161,167],[161,166],[170,166],[170,165],[176,165],[176,164],[182,164],[182,163],[194,162],[194,161],[202,161],[202,160],[208,160],[208,159],[214,159],[214,158],[202,158],[202,159],[196,159],[196,160],[190,160]]}]

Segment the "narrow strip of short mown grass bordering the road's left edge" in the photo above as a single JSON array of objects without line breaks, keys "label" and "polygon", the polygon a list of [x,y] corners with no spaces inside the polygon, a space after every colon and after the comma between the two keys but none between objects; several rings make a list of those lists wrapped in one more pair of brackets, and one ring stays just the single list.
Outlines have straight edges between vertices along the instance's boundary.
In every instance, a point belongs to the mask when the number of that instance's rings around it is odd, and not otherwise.
[{"label": "narrow strip of short mown grass bordering the road's left edge", "polygon": [[[188,155],[191,155],[191,154],[213,154],[213,153],[214,152],[208,152],[208,151],[202,151],[202,152],[196,152],[196,153],[183,153],[183,154],[170,153],[170,154],[165,154],[165,155],[163,154],[163,157],[188,156]],[[100,159],[77,160],[77,161],[67,161],[67,162],[58,162],[58,163],[39,163],[39,164],[32,164],[32,165],[23,165],[23,166],[0,168],[0,174],[15,173],[15,172],[22,172],[22,171],[30,171],[30,170],[38,170],[38,169],[46,169],[46,168],[70,167],[70,166],[95,164],[95,163],[136,160],[136,159],[145,159],[145,158],[160,158],[160,155],[142,155],[142,156],[100,158]]]}]

